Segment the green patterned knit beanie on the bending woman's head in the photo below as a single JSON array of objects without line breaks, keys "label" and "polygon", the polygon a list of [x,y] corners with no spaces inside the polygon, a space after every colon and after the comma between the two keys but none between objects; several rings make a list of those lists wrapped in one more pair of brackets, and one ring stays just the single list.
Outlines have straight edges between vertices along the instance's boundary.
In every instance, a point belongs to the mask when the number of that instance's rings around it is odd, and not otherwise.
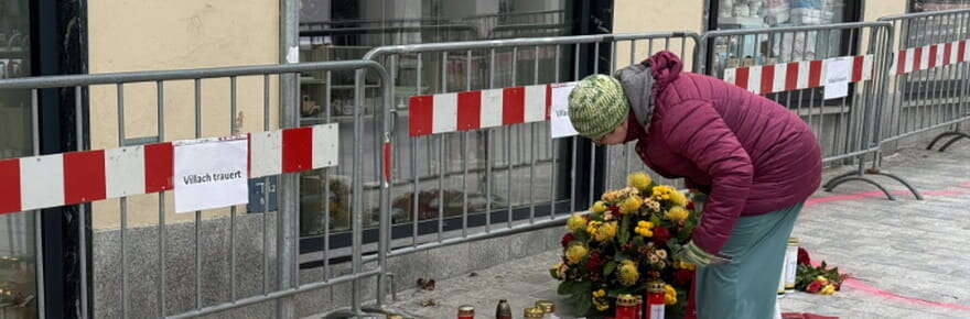
[{"label": "green patterned knit beanie on the bending woman's head", "polygon": [[599,140],[626,121],[629,102],[616,78],[596,74],[569,94],[569,120],[581,135]]}]

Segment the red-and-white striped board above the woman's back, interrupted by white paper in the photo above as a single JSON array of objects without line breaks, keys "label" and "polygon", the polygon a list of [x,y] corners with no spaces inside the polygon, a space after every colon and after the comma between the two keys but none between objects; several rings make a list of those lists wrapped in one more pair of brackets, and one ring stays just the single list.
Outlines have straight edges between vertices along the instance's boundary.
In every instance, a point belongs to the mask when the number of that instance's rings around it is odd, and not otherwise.
[{"label": "red-and-white striped board above the woman's back, interrupted by white paper", "polygon": [[[826,63],[816,59],[729,68],[724,70],[724,81],[757,95],[818,88],[826,82]],[[872,79],[872,55],[853,56],[850,81]]]}]

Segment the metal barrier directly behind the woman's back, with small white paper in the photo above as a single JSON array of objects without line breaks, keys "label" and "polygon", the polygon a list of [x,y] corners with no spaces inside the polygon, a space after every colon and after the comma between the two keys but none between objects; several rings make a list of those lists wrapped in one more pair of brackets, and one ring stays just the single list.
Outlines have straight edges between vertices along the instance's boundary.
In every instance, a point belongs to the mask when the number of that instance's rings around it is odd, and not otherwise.
[{"label": "metal barrier directly behind the woman's back, with small white paper", "polygon": [[[896,179],[919,197],[902,178],[863,168],[863,156],[877,157],[881,148],[875,132],[885,105],[891,26],[861,22],[713,31],[703,35],[707,53],[698,66],[791,109],[816,133],[824,163],[858,162],[856,172],[831,179],[826,189],[865,182],[893,199],[885,187],[863,176],[870,173]],[[836,81],[844,84],[842,95],[834,95]]]}]

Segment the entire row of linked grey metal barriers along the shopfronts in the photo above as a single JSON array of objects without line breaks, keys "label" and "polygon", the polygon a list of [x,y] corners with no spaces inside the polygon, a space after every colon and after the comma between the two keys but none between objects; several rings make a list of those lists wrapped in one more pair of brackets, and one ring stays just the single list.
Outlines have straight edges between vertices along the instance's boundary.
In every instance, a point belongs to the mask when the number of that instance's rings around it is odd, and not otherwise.
[{"label": "entire row of linked grey metal barriers along the shopfronts", "polygon": [[[966,64],[955,63],[958,57],[963,57],[961,50],[966,46],[962,38],[966,32],[970,32],[966,28],[970,10],[887,16],[884,20],[888,22],[714,31],[703,37],[689,32],[668,32],[381,46],[366,53],[363,61],[25,78],[0,80],[0,89],[29,89],[34,102],[34,121],[37,118],[37,96],[46,89],[75,91],[75,107],[80,119],[85,118],[83,96],[90,97],[91,103],[115,99],[117,113],[108,116],[117,117],[118,128],[100,133],[111,135],[117,132],[117,143],[90,143],[121,147],[164,143],[176,140],[175,136],[198,139],[269,131],[274,129],[270,112],[274,91],[271,79],[299,81],[299,77],[319,81],[320,90],[304,90],[302,94],[312,94],[313,100],[322,101],[323,106],[316,106],[322,108],[317,110],[320,116],[300,119],[298,105],[301,101],[294,97],[285,98],[280,108],[281,127],[336,123],[338,131],[352,131],[352,134],[341,134],[338,157],[343,164],[300,173],[299,176],[283,174],[276,218],[269,208],[272,200],[268,187],[261,188],[261,213],[240,217],[237,207],[229,208],[226,226],[229,261],[228,265],[223,265],[229,270],[228,278],[217,273],[204,273],[204,256],[207,255],[203,252],[205,240],[201,238],[203,229],[208,227],[206,223],[224,221],[226,213],[206,211],[213,215],[213,219],[203,221],[203,212],[195,212],[191,232],[184,233],[193,237],[190,240],[182,239],[183,233],[170,235],[170,231],[184,230],[176,230],[176,223],[166,223],[166,219],[180,218],[166,208],[171,199],[164,190],[158,193],[155,204],[150,205],[152,209],[158,208],[157,226],[129,230],[130,207],[136,206],[136,219],[143,218],[137,212],[148,207],[144,205],[147,196],[125,196],[118,199],[117,206],[114,202],[95,204],[94,210],[90,210],[91,206],[82,206],[82,220],[90,212],[115,215],[112,207],[116,207],[120,243],[117,284],[111,284],[112,274],[99,273],[109,270],[114,262],[94,258],[95,278],[101,280],[99,277],[105,276],[104,282],[108,284],[99,285],[117,288],[118,295],[95,296],[98,309],[94,310],[87,309],[87,302],[83,302],[83,316],[187,318],[277,300],[276,316],[292,317],[290,297],[342,283],[353,286],[349,312],[360,314],[359,293],[365,290],[359,286],[360,279],[377,277],[375,298],[378,307],[384,304],[388,292],[385,276],[392,275],[387,273],[389,256],[556,226],[569,213],[583,210],[584,205],[592,202],[602,189],[623,185],[626,174],[648,170],[637,156],[632,155],[636,154],[634,145],[596,146],[580,138],[551,139],[546,124],[551,99],[548,85],[575,81],[589,74],[612,73],[660,50],[679,54],[694,72],[734,82],[788,107],[816,133],[826,163],[854,161],[859,165],[858,169],[831,179],[824,186],[827,189],[845,182],[865,182],[893,198],[876,180],[863,176],[879,174],[903,183],[919,198],[916,189],[905,180],[877,169],[880,150],[885,142],[959,123],[970,116],[970,107],[963,97]],[[927,26],[928,23],[935,26]],[[917,29],[937,31],[927,40],[914,35],[925,34]],[[901,30],[898,34],[905,36],[896,56],[891,52],[894,34],[897,34],[894,30]],[[936,46],[939,44],[942,46]],[[907,61],[899,57],[903,52],[915,53],[922,47],[927,47],[927,53],[934,52],[927,56],[939,56],[939,61],[930,63],[928,58],[925,62],[915,58],[909,64],[899,64],[903,72],[893,68],[898,61]],[[906,65],[912,69],[906,70]],[[848,82],[847,92],[827,99],[827,70],[839,67],[845,67],[844,72],[832,76],[845,77],[840,82]],[[376,73],[379,81],[368,81],[368,72]],[[349,88],[353,90],[353,114],[333,116],[334,90],[336,86],[349,82],[349,74],[353,74],[354,82]],[[342,85],[336,84],[336,77],[344,80]],[[213,87],[225,90],[224,98],[229,101],[229,111],[225,113],[228,123],[208,124],[209,119],[223,116],[218,110],[204,108],[209,101],[218,105],[219,98],[204,95],[203,84],[206,88],[214,84]],[[256,89],[237,89],[247,86]],[[179,109],[177,101],[172,103],[172,95],[166,98],[165,92],[173,88],[193,92],[193,110]],[[126,89],[137,103],[157,106],[153,112],[149,112],[151,117],[137,114],[143,113],[142,108],[126,108]],[[146,94],[146,89],[154,94]],[[262,91],[261,96],[256,95],[259,91]],[[240,114],[246,112],[238,111],[246,107],[237,106],[240,92],[249,98],[262,98],[262,112],[256,112],[262,117],[261,129],[245,124],[245,117]],[[467,100],[470,97],[472,100]],[[488,97],[494,99],[488,100]],[[491,114],[484,109],[496,101],[505,107],[502,101],[509,98],[520,99],[521,105],[517,108],[524,113],[517,114],[520,117],[517,120],[500,113]],[[435,107],[439,100],[451,103],[452,113]],[[129,106],[132,106],[130,101],[129,98]],[[430,112],[430,122],[423,123],[429,125],[430,132],[416,132],[418,129],[412,119],[417,114],[416,107]],[[542,108],[546,108],[545,114]],[[924,116],[925,108],[929,108],[931,116]],[[194,114],[180,119],[172,117],[172,112]],[[126,113],[137,116],[133,121],[126,121]],[[466,122],[467,119],[460,113],[476,114],[476,119]],[[440,121],[435,120],[439,114],[455,119],[445,121],[448,123],[434,122]],[[166,118],[170,121],[166,122]],[[174,121],[193,119],[194,132],[177,132],[173,118]],[[126,134],[126,129],[143,133],[146,129],[136,128],[136,123],[152,122],[154,129],[148,131],[154,135],[130,139],[130,132]],[[87,123],[88,128],[84,124],[78,123],[76,128],[79,145],[86,143],[84,132],[97,127],[93,122]],[[166,133],[166,128],[176,132]],[[33,130],[36,145],[36,123]],[[949,141],[944,148],[955,141]],[[875,160],[869,170],[863,167],[866,155]],[[370,158],[373,162],[368,162]],[[313,191],[301,194],[301,187],[313,188]],[[306,216],[301,210],[311,208],[319,208],[321,217],[301,218]],[[345,223],[338,224],[342,219]],[[319,223],[314,229],[320,228],[315,235],[322,241],[321,274],[301,279],[300,230],[311,222]],[[133,263],[128,256],[131,248],[127,246],[126,239],[144,237],[150,228],[153,228],[151,234],[158,241],[158,258],[142,254],[139,258],[143,261]],[[218,230],[219,226],[208,228]],[[239,232],[239,228],[249,231]],[[83,227],[79,231],[85,233]],[[376,239],[365,242],[365,231],[374,232]],[[338,248],[331,239],[337,232],[349,234],[349,252],[336,252]],[[257,240],[255,235],[261,239]],[[96,238],[99,237],[91,239]],[[270,245],[271,238],[276,238],[274,245]],[[82,250],[86,249],[85,240],[87,238],[80,238]],[[169,245],[175,240],[188,244]],[[250,240],[261,248],[238,243]],[[369,248],[368,243],[375,246]],[[242,255],[256,255],[261,267],[237,273],[240,264],[237,249],[241,246],[250,250]],[[36,249],[40,256],[40,239]],[[192,251],[193,257],[179,256],[176,251],[183,249]],[[82,254],[88,252],[82,251]],[[174,263],[170,260],[173,254],[172,260],[177,260]],[[331,261],[341,256],[351,257],[349,273],[332,276],[338,272],[332,270]],[[270,266],[273,258],[276,267]],[[39,267],[40,261],[39,257]],[[193,270],[182,270],[182,273],[192,273],[193,277],[169,275],[173,273],[170,267],[181,262],[194,266]],[[364,264],[370,262],[377,262],[377,267],[365,270]],[[132,270],[141,264],[157,265],[157,268]],[[277,275],[276,283],[270,279],[272,273]],[[143,279],[129,280],[133,275]],[[240,280],[260,276],[258,283]],[[185,293],[194,298],[188,300],[169,294],[180,288],[169,283],[170,279],[191,280],[193,292]],[[86,294],[91,283],[86,277],[82,280],[82,294]],[[228,282],[229,289],[220,292],[213,284],[206,287],[212,290],[207,292],[212,296],[207,296],[203,283],[208,280]],[[154,288],[157,294],[154,298],[133,296],[129,294],[132,287]],[[120,297],[120,301],[112,308],[108,304],[116,297]],[[82,298],[86,300],[88,297]]]}]

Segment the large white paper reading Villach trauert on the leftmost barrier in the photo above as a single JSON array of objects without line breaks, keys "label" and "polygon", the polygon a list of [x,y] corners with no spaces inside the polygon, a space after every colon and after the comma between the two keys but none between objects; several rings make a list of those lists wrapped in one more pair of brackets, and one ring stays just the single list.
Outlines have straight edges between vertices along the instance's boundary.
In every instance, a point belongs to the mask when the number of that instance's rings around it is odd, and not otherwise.
[{"label": "large white paper reading Villach trauert on the leftmost barrier", "polygon": [[249,202],[245,136],[176,142],[175,212]]}]

